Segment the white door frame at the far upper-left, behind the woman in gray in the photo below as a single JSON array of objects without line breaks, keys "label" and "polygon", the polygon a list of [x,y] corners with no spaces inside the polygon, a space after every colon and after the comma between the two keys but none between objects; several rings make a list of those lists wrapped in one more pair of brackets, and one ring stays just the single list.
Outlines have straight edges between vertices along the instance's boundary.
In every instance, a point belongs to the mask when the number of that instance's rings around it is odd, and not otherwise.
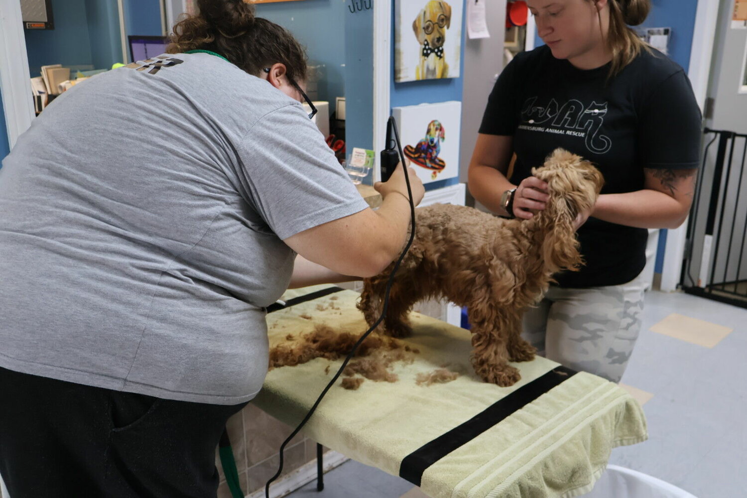
[{"label": "white door frame at the far upper-left, behind the woman in gray", "polygon": [[0,1],[0,88],[10,149],[34,119],[20,1]]}]

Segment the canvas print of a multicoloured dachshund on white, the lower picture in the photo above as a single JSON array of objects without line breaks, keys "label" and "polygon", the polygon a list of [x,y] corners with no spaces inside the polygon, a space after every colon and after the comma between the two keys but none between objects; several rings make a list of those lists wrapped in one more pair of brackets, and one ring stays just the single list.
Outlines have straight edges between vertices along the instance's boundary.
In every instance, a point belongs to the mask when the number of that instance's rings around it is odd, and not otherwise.
[{"label": "canvas print of a multicoloured dachshund on white, the lower picture", "polygon": [[403,152],[424,184],[459,175],[461,102],[392,109]]}]

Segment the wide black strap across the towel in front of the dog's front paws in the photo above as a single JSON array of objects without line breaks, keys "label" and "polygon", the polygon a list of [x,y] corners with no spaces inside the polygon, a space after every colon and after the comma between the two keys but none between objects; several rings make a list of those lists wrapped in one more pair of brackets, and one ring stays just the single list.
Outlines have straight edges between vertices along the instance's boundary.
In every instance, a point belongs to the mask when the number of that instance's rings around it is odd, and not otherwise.
[{"label": "wide black strap across the towel in front of the dog's front paws", "polygon": [[544,376],[519,387],[508,396],[462,423],[462,425],[456,426],[403,458],[400,464],[400,477],[407,479],[416,486],[420,486],[423,473],[436,461],[444,458],[459,446],[477,438],[501,420],[520,410],[524,405],[533,402],[566,379],[570,379],[575,373],[570,368],[558,366],[545,373]]}]

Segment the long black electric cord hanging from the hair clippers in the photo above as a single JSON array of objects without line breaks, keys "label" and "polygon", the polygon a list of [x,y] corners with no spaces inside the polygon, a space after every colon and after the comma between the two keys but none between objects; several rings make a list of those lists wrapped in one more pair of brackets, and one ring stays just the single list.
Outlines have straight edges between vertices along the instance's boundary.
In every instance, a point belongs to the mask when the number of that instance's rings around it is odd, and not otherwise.
[{"label": "long black electric cord hanging from the hair clippers", "polygon": [[[389,136],[389,131],[394,131],[394,140],[397,141],[397,150],[400,152],[400,160],[402,161],[402,167],[405,168],[405,155],[402,152],[402,144],[400,143],[400,135],[397,133],[397,122],[394,120],[394,116],[389,116],[388,122],[387,122],[387,136]],[[389,143],[386,144],[387,147],[389,147]],[[407,174],[407,171],[404,171],[405,175],[405,182],[407,184],[407,194],[410,201],[410,220],[412,223],[412,228],[410,230],[410,237],[409,240],[407,240],[407,245],[405,246],[405,249],[403,250],[402,254],[400,255],[400,258],[397,259],[397,263],[394,264],[394,269],[391,270],[391,275],[389,276],[389,280],[386,283],[386,289],[384,291],[384,306],[382,308],[381,316],[378,320],[376,320],[375,323],[371,326],[370,329],[368,329],[355,343],[353,346],[353,349],[347,354],[347,357],[342,362],[341,367],[335,373],[335,376],[332,377],[332,380],[329,381],[329,383],[324,387],[322,390],[322,393],[317,398],[316,402],[314,402],[314,405],[311,406],[309,409],[309,413],[306,414],[306,417],[303,417],[303,420],[298,424],[296,429],[294,429],[293,432],[291,432],[291,435],[288,436],[288,438],[285,438],[285,441],[282,442],[280,445],[280,451],[279,451],[279,466],[278,471],[275,473],[274,476],[270,477],[270,480],[267,481],[267,484],[264,485],[264,497],[270,498],[270,484],[277,479],[280,474],[282,473],[282,465],[283,465],[283,451],[285,450],[285,446],[288,444],[288,442],[291,441],[303,428],[303,426],[306,425],[306,423],[311,418],[311,415],[314,414],[314,411],[316,411],[317,407],[319,406],[320,402],[322,401],[323,397],[326,395],[327,391],[335,385],[335,382],[337,382],[337,379],[342,375],[343,370],[345,370],[345,367],[347,367],[348,361],[350,361],[351,358],[353,358],[353,355],[356,354],[356,349],[358,349],[358,346],[363,343],[366,337],[368,337],[368,334],[371,334],[373,329],[376,329],[377,326],[379,326],[379,323],[381,323],[382,320],[386,317],[386,311],[389,306],[389,290],[391,290],[391,284],[394,282],[394,276],[397,274],[397,270],[400,267],[400,264],[402,263],[403,258],[407,254],[407,251],[409,251],[410,246],[412,245],[412,240],[415,238],[415,204],[412,202],[412,188],[410,187],[410,178]]]}]

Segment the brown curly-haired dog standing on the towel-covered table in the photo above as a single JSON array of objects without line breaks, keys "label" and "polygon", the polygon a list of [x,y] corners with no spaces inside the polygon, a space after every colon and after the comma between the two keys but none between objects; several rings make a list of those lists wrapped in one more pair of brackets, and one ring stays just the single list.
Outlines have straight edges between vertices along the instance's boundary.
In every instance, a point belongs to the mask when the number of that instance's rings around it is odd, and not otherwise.
[{"label": "brown curly-haired dog standing on the towel-covered table", "polygon": [[[574,220],[594,205],[601,173],[562,149],[532,170],[548,183],[550,199],[531,220],[505,220],[474,208],[431,205],[415,214],[415,240],[391,287],[387,317],[377,332],[404,337],[408,314],[421,299],[447,299],[468,308],[472,364],[485,382],[513,385],[521,376],[508,361],[530,361],[521,317],[560,270],[578,270]],[[358,304],[369,325],[378,319],[394,264],[364,280]],[[385,329],[385,330],[384,330]]]}]

